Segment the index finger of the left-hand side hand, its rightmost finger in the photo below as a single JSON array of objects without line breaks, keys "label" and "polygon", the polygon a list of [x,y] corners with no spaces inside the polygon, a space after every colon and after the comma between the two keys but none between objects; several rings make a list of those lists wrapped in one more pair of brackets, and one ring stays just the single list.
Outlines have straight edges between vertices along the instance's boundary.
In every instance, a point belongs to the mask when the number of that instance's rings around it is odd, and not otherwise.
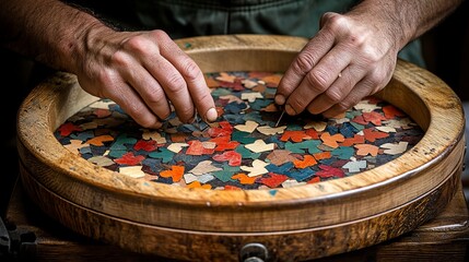
[{"label": "index finger of the left-hand side hand, its rightmost finger", "polygon": [[218,118],[215,103],[207,86],[202,71],[173,40],[165,44],[166,45],[162,46],[161,53],[184,78],[190,95],[189,99],[191,98],[191,102],[196,105],[197,111],[206,121],[215,121]]}]

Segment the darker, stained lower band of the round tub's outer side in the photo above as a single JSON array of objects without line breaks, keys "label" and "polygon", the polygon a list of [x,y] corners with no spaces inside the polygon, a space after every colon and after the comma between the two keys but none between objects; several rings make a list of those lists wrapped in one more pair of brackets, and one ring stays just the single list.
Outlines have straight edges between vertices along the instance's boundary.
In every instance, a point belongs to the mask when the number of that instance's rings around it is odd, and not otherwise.
[{"label": "darker, stained lower band of the round tub's outer side", "polygon": [[[68,228],[143,254],[184,261],[237,261],[247,243],[262,243],[275,261],[305,261],[370,247],[409,233],[441,213],[460,182],[456,174],[436,190],[399,209],[360,221],[300,230],[222,233],[165,228],[120,219],[60,198],[23,171],[23,183],[43,211]],[[54,204],[50,204],[54,203]]]}]

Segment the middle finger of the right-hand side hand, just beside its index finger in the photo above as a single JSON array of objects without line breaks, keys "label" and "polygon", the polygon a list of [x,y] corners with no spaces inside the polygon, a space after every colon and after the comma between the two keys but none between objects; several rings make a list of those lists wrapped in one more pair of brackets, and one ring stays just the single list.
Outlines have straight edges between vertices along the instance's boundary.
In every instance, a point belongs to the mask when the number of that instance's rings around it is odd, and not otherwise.
[{"label": "middle finger of the right-hand side hand, just beside its index finger", "polygon": [[333,47],[292,92],[286,100],[286,112],[291,116],[302,112],[310,102],[328,91],[341,71],[349,66],[351,57],[352,53],[341,46]]}]

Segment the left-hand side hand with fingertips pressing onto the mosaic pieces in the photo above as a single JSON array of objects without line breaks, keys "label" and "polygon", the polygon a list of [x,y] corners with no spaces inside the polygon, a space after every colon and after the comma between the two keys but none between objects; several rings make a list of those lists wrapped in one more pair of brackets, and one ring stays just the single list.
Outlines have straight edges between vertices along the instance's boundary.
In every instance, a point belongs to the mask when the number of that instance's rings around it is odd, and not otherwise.
[{"label": "left-hand side hand with fingertips pressing onto the mosaic pieces", "polygon": [[216,119],[203,73],[164,32],[101,26],[85,48],[77,58],[82,88],[114,100],[140,126],[160,128],[172,106],[183,122],[194,121],[196,110],[206,121]]}]

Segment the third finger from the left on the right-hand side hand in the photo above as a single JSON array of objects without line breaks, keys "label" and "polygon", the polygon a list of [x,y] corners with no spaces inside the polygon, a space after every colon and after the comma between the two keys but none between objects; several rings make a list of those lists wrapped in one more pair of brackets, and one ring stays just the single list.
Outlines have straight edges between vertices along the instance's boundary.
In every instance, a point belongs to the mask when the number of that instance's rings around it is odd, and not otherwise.
[{"label": "third finger from the left on the right-hand side hand", "polygon": [[364,69],[355,66],[347,67],[326,92],[309,103],[307,110],[313,115],[318,115],[341,103],[365,74]]}]

